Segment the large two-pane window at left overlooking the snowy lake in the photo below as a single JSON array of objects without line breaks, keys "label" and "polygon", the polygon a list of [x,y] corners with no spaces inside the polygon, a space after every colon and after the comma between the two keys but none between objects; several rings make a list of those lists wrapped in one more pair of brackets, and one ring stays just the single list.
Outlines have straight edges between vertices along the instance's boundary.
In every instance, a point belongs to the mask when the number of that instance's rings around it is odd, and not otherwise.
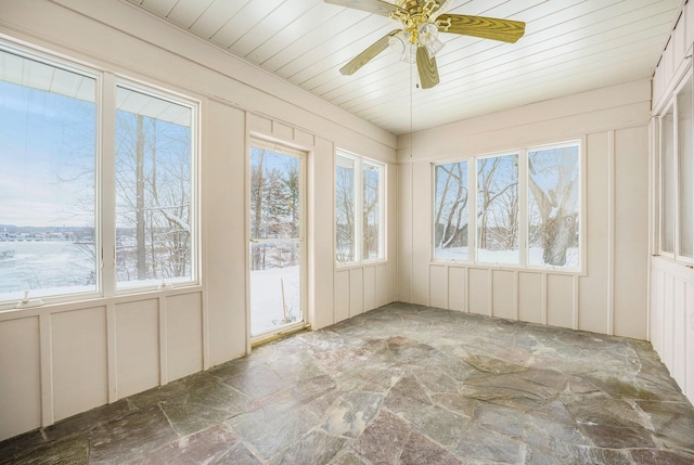
[{"label": "large two-pane window at left overlooking the snowy lake", "polygon": [[0,43],[2,308],[196,281],[196,106],[101,76]]}]

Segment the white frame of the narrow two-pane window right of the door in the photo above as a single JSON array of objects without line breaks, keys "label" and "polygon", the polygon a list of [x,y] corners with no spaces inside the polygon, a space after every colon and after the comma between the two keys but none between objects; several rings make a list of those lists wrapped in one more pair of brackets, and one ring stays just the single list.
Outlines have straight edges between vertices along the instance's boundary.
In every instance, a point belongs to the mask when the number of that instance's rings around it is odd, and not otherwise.
[{"label": "white frame of the narrow two-pane window right of the door", "polygon": [[[335,199],[333,202],[333,225],[335,228],[335,233],[333,234],[334,241],[334,261],[336,267],[347,268],[347,267],[356,267],[362,264],[370,263],[378,263],[387,260],[387,247],[386,247],[386,179],[387,179],[387,166],[384,163],[375,160],[373,158],[367,158],[360,155],[356,155],[354,153],[344,151],[342,148],[337,148],[335,151],[334,158],[334,169],[333,169],[333,194],[335,194],[337,189],[337,167],[338,167],[338,158],[347,158],[352,160],[354,163],[354,179],[352,179],[352,193],[355,198],[355,218],[354,221],[354,260],[351,261],[339,261],[337,260],[337,196],[335,195]],[[377,169],[378,171],[378,194],[377,194],[377,205],[378,205],[378,257],[376,258],[364,258],[363,257],[363,241],[364,241],[364,224],[363,224],[363,173],[364,166],[371,166]]]}]

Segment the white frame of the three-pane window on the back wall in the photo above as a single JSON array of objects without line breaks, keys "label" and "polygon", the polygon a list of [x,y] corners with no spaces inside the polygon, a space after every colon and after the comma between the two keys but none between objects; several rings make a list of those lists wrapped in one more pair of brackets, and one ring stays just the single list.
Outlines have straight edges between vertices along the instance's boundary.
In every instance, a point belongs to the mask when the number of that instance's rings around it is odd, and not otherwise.
[{"label": "white frame of the three-pane window on the back wall", "polygon": [[[556,266],[542,266],[542,264],[530,264],[529,262],[529,181],[528,181],[528,163],[529,163],[529,153],[538,152],[544,150],[553,150],[553,148],[562,148],[568,146],[577,146],[578,151],[578,267],[576,268],[566,268],[566,267],[556,267]],[[509,269],[509,270],[529,270],[529,271],[538,271],[538,272],[547,272],[551,271],[553,273],[565,273],[571,275],[583,275],[586,270],[586,156],[584,156],[584,147],[586,147],[586,138],[577,138],[569,139],[562,142],[547,143],[547,144],[536,144],[528,145],[524,148],[516,150],[506,150],[493,153],[485,153],[479,155],[472,155],[467,157],[455,157],[448,158],[440,162],[432,163],[432,176],[430,176],[430,185],[432,185],[432,216],[430,216],[430,261],[435,263],[445,263],[449,266],[460,264],[463,267],[484,267],[484,268],[493,268],[493,269]],[[503,157],[509,155],[517,155],[518,156],[518,184],[517,184],[517,196],[518,196],[518,263],[503,263],[503,262],[488,262],[480,261],[478,258],[478,204],[477,204],[477,194],[478,194],[478,162],[480,159],[488,159],[493,157]],[[465,162],[467,163],[467,185],[468,185],[468,198],[467,198],[467,259],[447,259],[447,258],[437,258],[436,257],[436,224],[435,224],[435,215],[436,215],[436,168],[441,165],[450,165],[454,163]],[[474,214],[472,212],[474,208]]]}]

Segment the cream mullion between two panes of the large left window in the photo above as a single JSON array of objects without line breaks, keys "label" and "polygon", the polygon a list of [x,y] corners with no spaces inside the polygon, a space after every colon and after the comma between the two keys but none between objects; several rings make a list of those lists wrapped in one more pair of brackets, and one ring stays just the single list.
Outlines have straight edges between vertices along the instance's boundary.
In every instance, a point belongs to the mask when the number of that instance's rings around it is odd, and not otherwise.
[{"label": "cream mullion between two panes of the large left window", "polygon": [[101,289],[113,296],[116,289],[116,79],[105,74],[101,92],[101,140],[97,204],[101,237]]}]

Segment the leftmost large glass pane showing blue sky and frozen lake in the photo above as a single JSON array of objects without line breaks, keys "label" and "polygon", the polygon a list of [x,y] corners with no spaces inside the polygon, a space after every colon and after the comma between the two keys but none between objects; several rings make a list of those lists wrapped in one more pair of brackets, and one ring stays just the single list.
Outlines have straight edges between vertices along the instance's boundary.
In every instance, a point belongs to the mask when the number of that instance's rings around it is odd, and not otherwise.
[{"label": "leftmost large glass pane showing blue sky and frozen lake", "polygon": [[97,290],[95,80],[0,51],[0,300]]}]

